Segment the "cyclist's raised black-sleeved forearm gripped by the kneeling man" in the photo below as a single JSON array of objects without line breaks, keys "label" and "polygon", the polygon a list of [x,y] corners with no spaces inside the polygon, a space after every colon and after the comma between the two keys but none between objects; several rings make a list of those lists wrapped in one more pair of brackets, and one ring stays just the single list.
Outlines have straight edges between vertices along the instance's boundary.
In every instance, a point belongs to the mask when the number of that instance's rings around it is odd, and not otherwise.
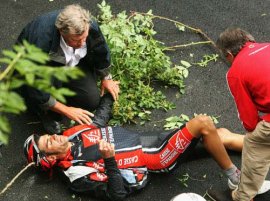
[{"label": "cyclist's raised black-sleeved forearm gripped by the kneeling man", "polygon": [[107,126],[112,117],[113,97],[107,93],[101,97],[98,108],[96,109],[95,116],[92,118],[93,124],[98,127]]}]

